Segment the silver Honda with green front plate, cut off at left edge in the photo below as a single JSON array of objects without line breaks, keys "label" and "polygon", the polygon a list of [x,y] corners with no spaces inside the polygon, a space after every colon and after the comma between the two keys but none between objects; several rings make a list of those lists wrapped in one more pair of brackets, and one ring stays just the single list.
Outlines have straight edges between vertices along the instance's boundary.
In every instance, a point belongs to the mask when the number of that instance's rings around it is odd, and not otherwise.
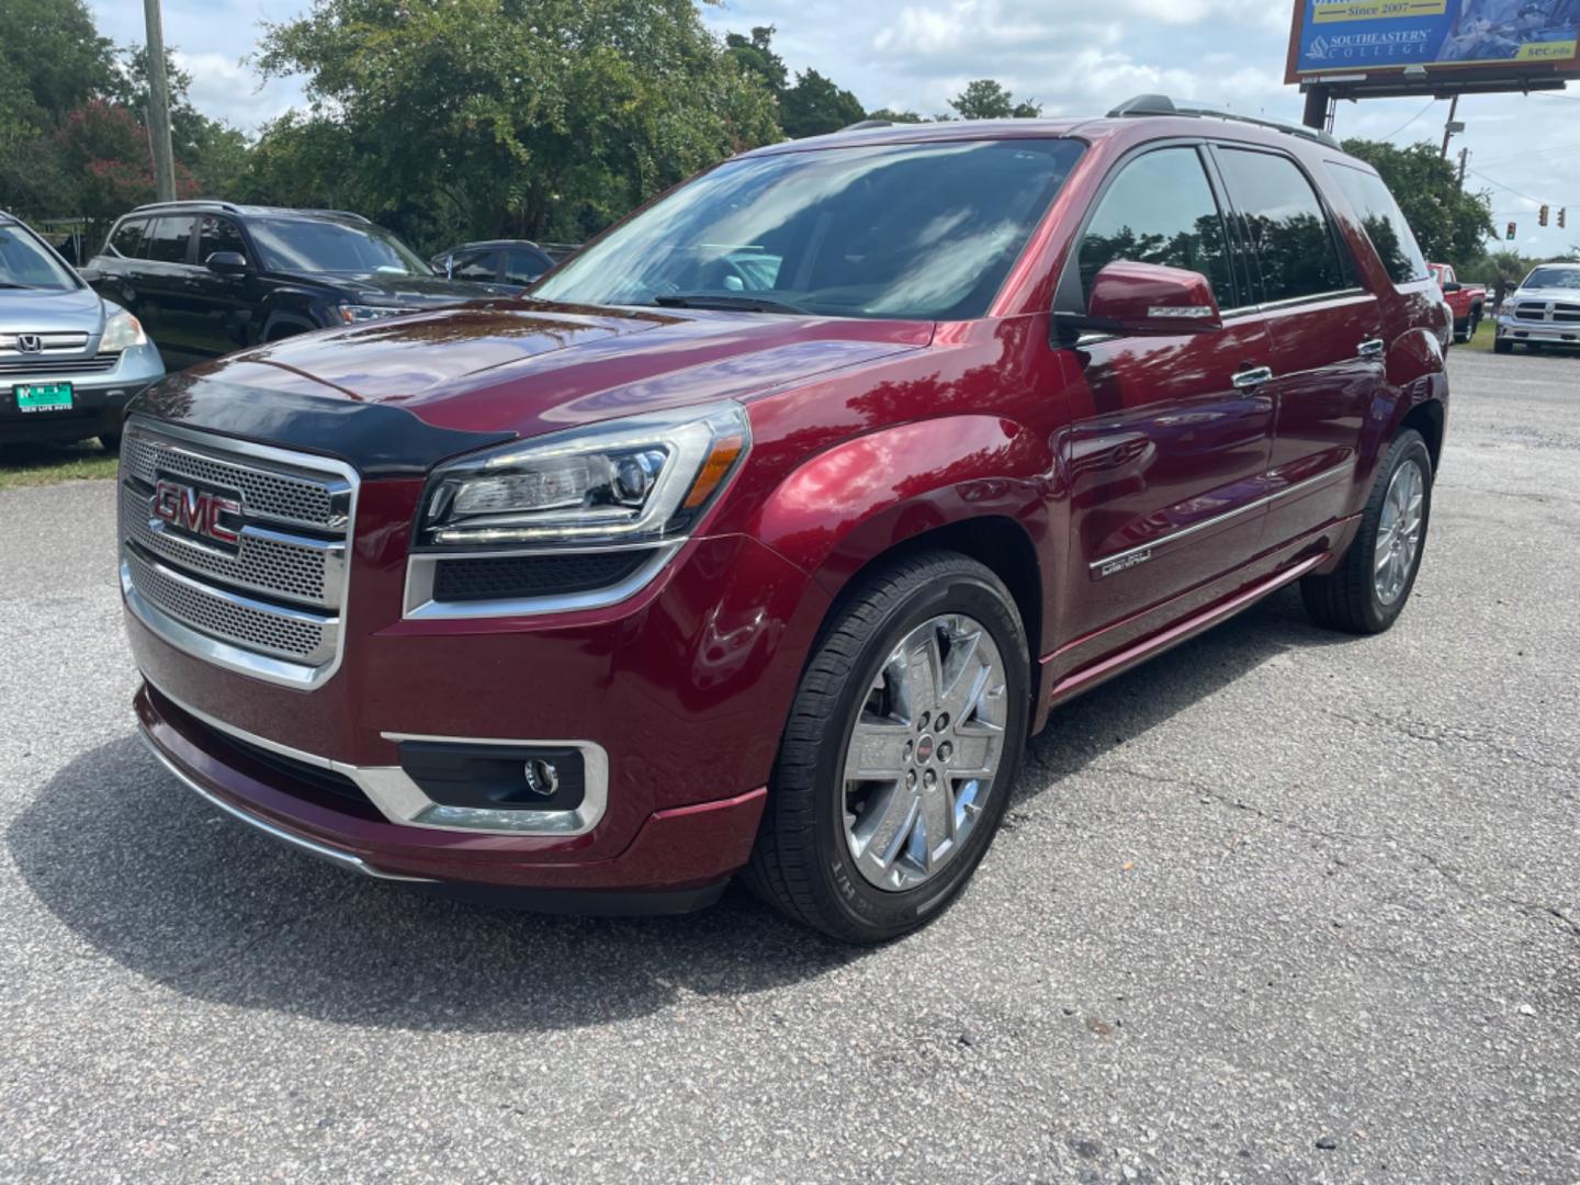
[{"label": "silver Honda with green front plate, cut off at left edge", "polygon": [[126,403],[164,374],[137,318],[0,210],[0,444],[120,446]]}]

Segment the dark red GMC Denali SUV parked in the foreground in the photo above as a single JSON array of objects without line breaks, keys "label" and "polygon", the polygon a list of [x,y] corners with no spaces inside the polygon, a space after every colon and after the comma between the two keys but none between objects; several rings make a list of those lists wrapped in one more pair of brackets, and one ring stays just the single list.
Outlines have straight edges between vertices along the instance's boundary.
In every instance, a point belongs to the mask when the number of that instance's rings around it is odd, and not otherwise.
[{"label": "dark red GMC Denali SUV parked in the foreground", "polygon": [[736,156],[525,300],[175,376],[122,460],[153,752],[390,880],[939,913],[1030,733],[1300,581],[1387,629],[1443,303],[1315,133],[1139,100]]}]

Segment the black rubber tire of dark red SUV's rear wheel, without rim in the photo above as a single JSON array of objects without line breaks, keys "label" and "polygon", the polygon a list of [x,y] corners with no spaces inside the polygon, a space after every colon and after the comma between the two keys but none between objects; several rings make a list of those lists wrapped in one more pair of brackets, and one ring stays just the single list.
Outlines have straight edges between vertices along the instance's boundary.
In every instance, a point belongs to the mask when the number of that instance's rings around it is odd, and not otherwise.
[{"label": "black rubber tire of dark red SUV's rear wheel, without rim", "polygon": [[[1403,592],[1392,605],[1384,605],[1373,578],[1373,556],[1389,482],[1409,460],[1420,465],[1425,479],[1422,482],[1420,547],[1416,550],[1416,562],[1405,580]],[[1376,480],[1371,482],[1371,495],[1360,515],[1360,529],[1356,531],[1338,569],[1330,575],[1307,577],[1300,581],[1300,597],[1305,600],[1305,611],[1311,621],[1346,634],[1381,634],[1398,619],[1405,605],[1409,604],[1422,556],[1427,553],[1427,536],[1431,526],[1431,452],[1419,431],[1406,428],[1394,438],[1387,457],[1378,466]]]}]

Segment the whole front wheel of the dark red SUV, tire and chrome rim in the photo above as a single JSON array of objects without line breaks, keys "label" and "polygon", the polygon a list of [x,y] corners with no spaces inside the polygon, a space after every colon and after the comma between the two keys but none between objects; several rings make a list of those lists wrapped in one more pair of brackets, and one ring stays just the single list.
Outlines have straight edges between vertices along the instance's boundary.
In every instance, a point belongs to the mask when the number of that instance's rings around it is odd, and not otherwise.
[{"label": "whole front wheel of the dark red SUV, tire and chrome rim", "polygon": [[877,572],[796,692],[746,880],[785,915],[874,943],[943,912],[1021,768],[1030,648],[1014,599],[950,551]]}]

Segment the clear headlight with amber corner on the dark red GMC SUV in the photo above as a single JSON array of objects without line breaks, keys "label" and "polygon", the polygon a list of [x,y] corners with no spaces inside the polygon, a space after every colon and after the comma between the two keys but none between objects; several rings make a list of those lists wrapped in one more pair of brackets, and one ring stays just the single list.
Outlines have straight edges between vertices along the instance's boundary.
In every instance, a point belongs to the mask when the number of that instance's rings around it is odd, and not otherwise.
[{"label": "clear headlight with amber corner on the dark red GMC SUV", "polygon": [[681,408],[510,444],[434,472],[428,548],[653,544],[684,534],[750,449],[738,403]]}]

